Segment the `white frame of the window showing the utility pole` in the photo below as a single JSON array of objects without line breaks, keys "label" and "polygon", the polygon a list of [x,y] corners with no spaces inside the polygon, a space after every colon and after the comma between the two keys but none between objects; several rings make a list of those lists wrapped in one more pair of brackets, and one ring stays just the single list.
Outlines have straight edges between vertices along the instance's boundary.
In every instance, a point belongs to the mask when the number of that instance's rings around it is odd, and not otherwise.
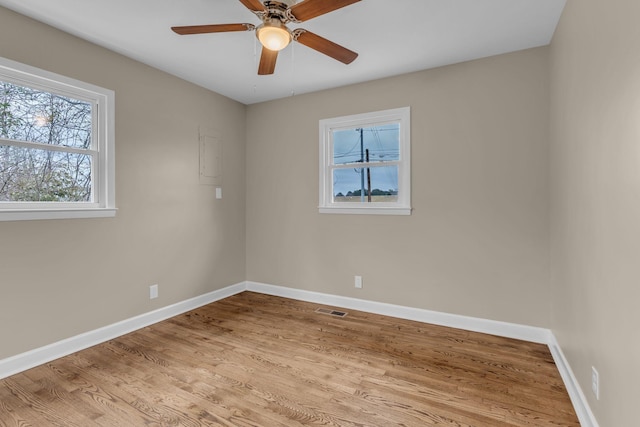
[{"label": "white frame of the window showing the utility pole", "polygon": [[[345,165],[333,164],[333,131],[375,125],[400,124],[400,158],[384,165],[398,166],[398,201],[393,203],[357,203],[333,201],[333,170]],[[359,164],[360,165],[360,164]],[[366,167],[366,164],[362,164]],[[375,163],[380,166],[380,163]],[[353,165],[351,165],[353,167]],[[320,213],[411,215],[411,109],[395,108],[351,116],[320,120]]]}]

